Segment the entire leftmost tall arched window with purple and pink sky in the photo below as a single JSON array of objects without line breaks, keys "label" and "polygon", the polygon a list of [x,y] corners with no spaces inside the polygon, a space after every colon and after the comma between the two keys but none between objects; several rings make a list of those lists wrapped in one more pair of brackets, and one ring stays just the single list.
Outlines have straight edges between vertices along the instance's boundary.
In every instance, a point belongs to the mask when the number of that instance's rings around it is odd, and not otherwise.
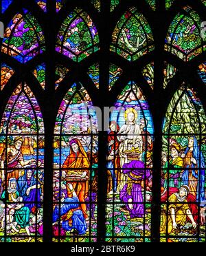
[{"label": "entire leftmost tall arched window with purple and pink sky", "polygon": [[8,100],[0,132],[0,241],[42,242],[44,124],[26,84]]}]

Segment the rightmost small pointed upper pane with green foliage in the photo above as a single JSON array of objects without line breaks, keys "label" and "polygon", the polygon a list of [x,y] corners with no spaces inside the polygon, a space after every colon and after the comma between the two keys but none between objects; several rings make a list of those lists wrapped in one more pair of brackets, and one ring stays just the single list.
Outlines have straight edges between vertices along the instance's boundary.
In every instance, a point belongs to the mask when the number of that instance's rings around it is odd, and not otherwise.
[{"label": "rightmost small pointed upper pane with green foliage", "polygon": [[201,36],[201,18],[186,6],[172,21],[165,39],[165,50],[183,61],[190,61],[205,51],[206,38]]}]

